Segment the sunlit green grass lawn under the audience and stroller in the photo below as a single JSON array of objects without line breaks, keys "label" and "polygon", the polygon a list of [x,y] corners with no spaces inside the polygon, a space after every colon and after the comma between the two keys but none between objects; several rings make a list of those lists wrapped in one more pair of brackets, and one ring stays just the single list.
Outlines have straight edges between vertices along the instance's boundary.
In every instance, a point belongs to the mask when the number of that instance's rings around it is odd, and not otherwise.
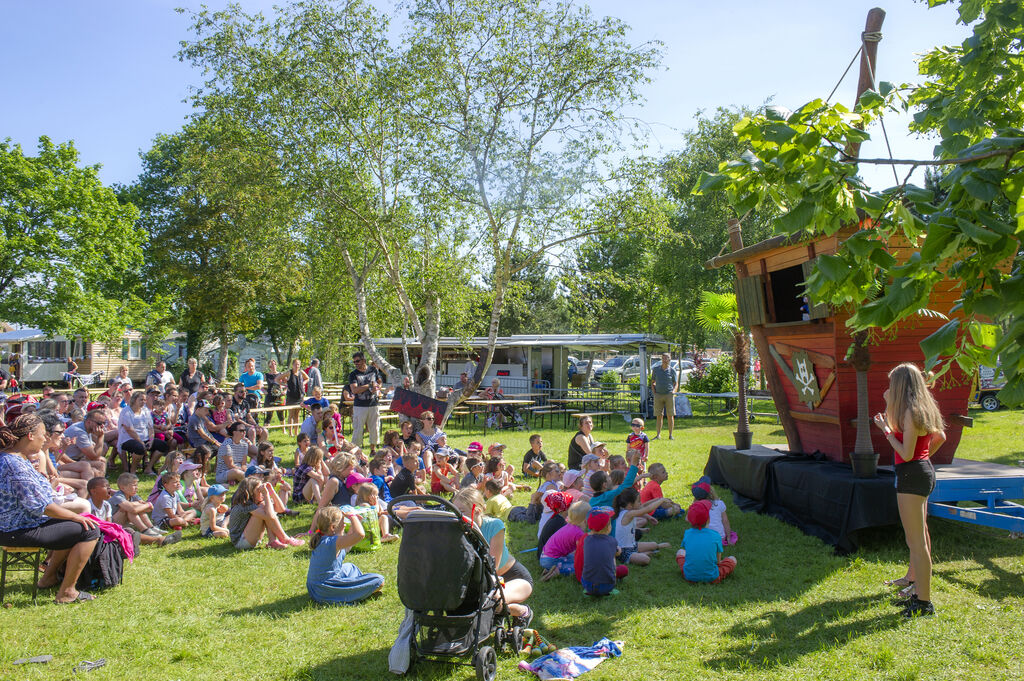
[{"label": "sunlit green grass lawn under the audience and stroller", "polygon": [[[958,455],[1016,464],[1024,459],[1024,414],[974,413]],[[652,443],[651,460],[670,472],[666,494],[684,505],[709,449],[730,443],[734,422],[698,417],[680,422],[676,439]],[[757,423],[755,441],[783,442],[778,426]],[[289,457],[280,431],[279,454]],[[451,431],[465,449],[477,433]],[[564,461],[572,431],[541,431],[545,450]],[[653,435],[653,428],[648,428]],[[623,442],[626,424],[596,435]],[[528,433],[501,435],[512,460]],[[612,453],[625,446],[617,444]],[[152,486],[143,478],[142,486]],[[685,491],[685,492],[684,492]],[[625,642],[621,658],[587,679],[1020,679],[1024,677],[1024,543],[1005,533],[943,520],[932,522],[935,618],[906,622],[889,603],[883,580],[899,577],[907,552],[898,527],[866,538],[853,556],[839,557],[820,541],[766,516],[736,510],[736,571],[718,586],[684,583],[673,554],[633,567],[615,597],[593,600],[568,579],[538,584],[534,626],[557,645],[585,645],[602,636]],[[142,493],[144,494],[144,492]],[[520,496],[520,503],[525,495]],[[288,518],[298,533],[309,507]],[[679,544],[685,520],[667,521],[651,539]],[[536,543],[536,525],[513,524],[513,552]],[[143,548],[125,584],[92,603],[56,606],[52,592],[33,606],[26,576],[15,573],[0,610],[0,679],[70,679],[83,659],[105,657],[90,681],[172,679],[384,679],[401,603],[394,584],[398,546],[352,560],[387,579],[384,596],[354,607],[314,605],[306,595],[308,549],[236,551],[198,530],[167,549]],[[540,576],[536,553],[520,556]],[[18,657],[50,653],[48,665],[14,667]],[[501,678],[534,678],[518,661],[499,658]],[[470,679],[470,668],[420,664],[417,679]]]}]

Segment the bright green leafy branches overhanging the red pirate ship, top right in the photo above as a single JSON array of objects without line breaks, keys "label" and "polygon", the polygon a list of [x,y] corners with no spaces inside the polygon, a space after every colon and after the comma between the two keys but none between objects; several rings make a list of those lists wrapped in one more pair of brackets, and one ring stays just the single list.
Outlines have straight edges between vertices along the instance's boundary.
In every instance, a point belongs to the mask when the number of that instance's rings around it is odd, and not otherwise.
[{"label": "bright green leafy branches overhanging the red pirate ship, top right", "polygon": [[[945,4],[930,0],[930,5]],[[752,152],[701,177],[698,194],[724,190],[739,215],[765,205],[782,215],[776,230],[833,235],[869,221],[836,255],[817,258],[808,291],[815,301],[849,306],[854,331],[887,329],[927,308],[944,278],[962,291],[950,320],[922,341],[928,368],[957,363],[972,373],[1001,359],[1008,405],[1024,402],[1024,5],[1017,0],[964,0],[959,20],[973,34],[921,60],[919,86],[878,83],[854,111],[815,99],[796,112],[769,108],[736,127]],[[886,111],[916,107],[913,129],[935,133],[929,159],[863,159],[851,148],[870,138]],[[896,186],[872,190],[858,164],[905,168]],[[949,167],[943,191],[911,184],[920,167]],[[1007,206],[1014,207],[1008,218]],[[919,248],[906,262],[888,252],[895,235]],[[874,298],[866,293],[876,282]],[[998,326],[985,325],[993,321]],[[993,338],[989,330],[1005,329]],[[994,346],[994,347],[993,347]]]}]

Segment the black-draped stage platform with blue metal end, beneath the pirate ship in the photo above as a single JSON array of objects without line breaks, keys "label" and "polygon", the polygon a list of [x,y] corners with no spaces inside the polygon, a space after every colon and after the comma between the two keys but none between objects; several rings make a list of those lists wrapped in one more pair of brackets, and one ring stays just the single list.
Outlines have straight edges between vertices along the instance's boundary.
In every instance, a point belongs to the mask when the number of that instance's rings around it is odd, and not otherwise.
[{"label": "black-draped stage platform with blue metal end, beneath the pirate ship", "polygon": [[[1008,500],[1024,499],[1024,468],[959,459],[935,471],[930,513],[1020,531],[1024,507]],[[740,509],[777,517],[841,553],[857,549],[860,529],[899,525],[891,466],[880,467],[878,477],[856,478],[849,464],[793,455],[784,445],[716,445],[705,474],[729,487]],[[985,506],[956,508],[962,501]]]}]

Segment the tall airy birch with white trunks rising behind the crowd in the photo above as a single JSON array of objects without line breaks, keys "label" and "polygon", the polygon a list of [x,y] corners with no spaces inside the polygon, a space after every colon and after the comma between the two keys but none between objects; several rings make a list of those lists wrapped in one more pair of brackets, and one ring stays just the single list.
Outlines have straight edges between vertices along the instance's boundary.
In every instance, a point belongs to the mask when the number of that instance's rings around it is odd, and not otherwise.
[{"label": "tall airy birch with white trunks rising behind the crowd", "polygon": [[[182,57],[209,74],[197,102],[231,111],[288,159],[349,273],[359,336],[378,366],[368,291],[420,340],[432,392],[441,320],[494,272],[486,371],[519,270],[583,235],[599,163],[656,63],[652,46],[586,8],[541,0],[415,2],[400,48],[366,3],[295,4],[270,24],[237,8],[196,15]],[[612,178],[613,179],[613,178]],[[615,182],[609,183],[614,187]],[[528,256],[514,261],[516,249]]]}]

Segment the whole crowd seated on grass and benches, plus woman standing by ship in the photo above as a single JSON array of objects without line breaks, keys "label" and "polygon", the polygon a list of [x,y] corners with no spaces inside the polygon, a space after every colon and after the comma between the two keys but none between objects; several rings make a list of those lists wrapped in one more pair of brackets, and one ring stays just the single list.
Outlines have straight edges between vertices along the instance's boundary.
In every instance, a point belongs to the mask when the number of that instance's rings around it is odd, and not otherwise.
[{"label": "whole crowd seated on grass and benches, plus woman standing by ship", "polygon": [[[371,393],[376,399],[379,375],[366,368],[361,353],[355,359],[347,387],[356,397]],[[677,517],[691,525],[676,554],[685,580],[718,583],[735,569],[735,557],[722,555],[738,539],[724,502],[706,478],[691,485],[693,501],[685,512],[665,497],[669,473],[664,464],[648,464],[651,442],[642,419],[633,419],[624,455],[610,454],[607,443],[595,439],[590,417],[583,417],[569,440],[566,465],[549,460],[540,434],[529,438],[521,464],[514,465],[500,443],[485,453],[479,442],[456,450],[431,412],[386,432],[383,446],[372,442],[366,453],[342,434],[337,410],[314,397],[296,434],[294,461],[284,462],[250,414],[250,396],[263,397],[265,376],[253,380],[247,363],[232,390],[222,393],[189,365],[191,371],[177,384],[161,383],[166,375],[158,365],[144,391],[119,375],[93,400],[76,391],[70,398],[52,394],[6,410],[0,426],[0,545],[50,550],[39,586],[56,586],[56,602],[92,598],[76,583],[101,533],[110,540],[121,539],[118,530],[124,530],[129,546],[166,545],[197,525],[202,537],[226,539],[240,550],[256,548],[264,537],[268,547],[285,549],[305,540],[289,536],[281,517],[296,514],[290,504],[306,503],[315,506],[306,533],[312,548],[309,594],[324,602],[355,602],[380,591],[384,578],[364,574],[345,561],[347,552],[397,540],[388,502],[424,494],[451,497],[479,528],[503,578],[510,612],[522,626],[532,616],[525,601],[534,579],[508,549],[509,522],[538,525],[542,580],[572,576],[593,596],[616,593],[630,565],[649,564],[669,548],[644,535]],[[910,547],[909,569],[894,583],[911,588],[907,613],[931,612],[924,505],[934,485],[928,454],[944,439],[941,416],[912,365],[893,370],[885,397],[887,411],[876,424],[897,453],[897,498]],[[106,472],[116,457],[122,473],[112,493]],[[161,459],[153,493],[143,500],[137,471],[141,466],[156,474]],[[537,488],[517,482],[519,474],[536,478]],[[520,492],[529,493],[528,501],[515,506]],[[410,503],[401,512],[414,510]]]}]

